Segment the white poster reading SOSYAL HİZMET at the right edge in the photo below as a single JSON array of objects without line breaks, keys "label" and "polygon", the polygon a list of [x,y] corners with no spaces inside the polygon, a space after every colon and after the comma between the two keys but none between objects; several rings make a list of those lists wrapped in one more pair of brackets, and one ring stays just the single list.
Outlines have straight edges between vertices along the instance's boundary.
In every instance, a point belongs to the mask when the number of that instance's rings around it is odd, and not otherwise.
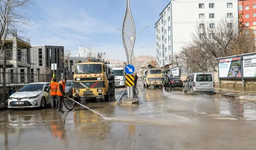
[{"label": "white poster reading SOSYAL H\u0130ZMET at the right edge", "polygon": [[256,76],[256,55],[243,57],[243,76],[244,77]]}]

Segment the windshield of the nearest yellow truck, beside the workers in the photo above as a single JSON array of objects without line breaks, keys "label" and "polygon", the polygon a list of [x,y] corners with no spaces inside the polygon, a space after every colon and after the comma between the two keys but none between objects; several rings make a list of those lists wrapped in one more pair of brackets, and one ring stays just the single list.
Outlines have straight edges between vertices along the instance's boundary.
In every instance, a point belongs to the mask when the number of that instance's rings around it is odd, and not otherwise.
[{"label": "windshield of the nearest yellow truck, beside the workers", "polygon": [[82,64],[76,65],[76,74],[101,74],[102,65],[101,64]]}]

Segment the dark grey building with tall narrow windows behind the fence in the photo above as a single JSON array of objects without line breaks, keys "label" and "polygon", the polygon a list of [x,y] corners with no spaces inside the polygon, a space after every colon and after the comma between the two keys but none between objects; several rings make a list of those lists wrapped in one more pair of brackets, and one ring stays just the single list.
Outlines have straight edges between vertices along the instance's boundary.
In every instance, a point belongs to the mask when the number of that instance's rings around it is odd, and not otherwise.
[{"label": "dark grey building with tall narrow windows behind the fence", "polygon": [[31,73],[39,71],[40,74],[52,74],[51,64],[57,63],[55,74],[64,73],[64,62],[61,54],[64,46],[36,45],[30,48]]}]

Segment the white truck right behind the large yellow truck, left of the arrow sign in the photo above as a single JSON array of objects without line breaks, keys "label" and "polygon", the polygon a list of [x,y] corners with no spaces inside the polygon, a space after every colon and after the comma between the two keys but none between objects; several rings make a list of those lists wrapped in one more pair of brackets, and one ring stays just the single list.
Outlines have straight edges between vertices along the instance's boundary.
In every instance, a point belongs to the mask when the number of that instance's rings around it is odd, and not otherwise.
[{"label": "white truck right behind the large yellow truck, left of the arrow sign", "polygon": [[121,67],[113,68],[115,76],[115,86],[116,87],[125,87],[125,75],[124,69]]}]

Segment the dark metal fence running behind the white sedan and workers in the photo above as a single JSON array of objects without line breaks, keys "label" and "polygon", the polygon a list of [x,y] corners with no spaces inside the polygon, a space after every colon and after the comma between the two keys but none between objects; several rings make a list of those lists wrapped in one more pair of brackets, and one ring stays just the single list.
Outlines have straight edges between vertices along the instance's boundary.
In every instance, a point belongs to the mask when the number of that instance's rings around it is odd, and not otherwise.
[{"label": "dark metal fence running behind the white sedan and workers", "polygon": [[[33,82],[50,82],[51,74],[25,74],[25,73],[5,73],[6,84],[28,84]],[[65,74],[55,74],[55,78],[58,81],[67,77]],[[73,80],[73,76],[68,76],[68,80]],[[3,84],[3,73],[0,72],[0,85]]]}]

